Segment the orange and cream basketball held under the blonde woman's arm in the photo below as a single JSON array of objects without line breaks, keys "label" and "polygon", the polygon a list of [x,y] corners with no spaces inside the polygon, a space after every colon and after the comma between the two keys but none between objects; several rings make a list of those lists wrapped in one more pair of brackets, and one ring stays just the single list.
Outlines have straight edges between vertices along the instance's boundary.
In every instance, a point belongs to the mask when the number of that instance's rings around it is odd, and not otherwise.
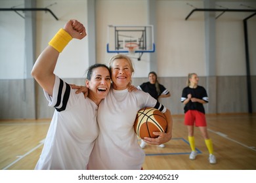
[{"label": "orange and cream basketball held under the blonde woman's arm", "polygon": [[153,132],[165,132],[167,120],[160,110],[152,107],[141,108],[136,116],[134,124],[135,133],[143,139],[144,137],[156,138]]}]

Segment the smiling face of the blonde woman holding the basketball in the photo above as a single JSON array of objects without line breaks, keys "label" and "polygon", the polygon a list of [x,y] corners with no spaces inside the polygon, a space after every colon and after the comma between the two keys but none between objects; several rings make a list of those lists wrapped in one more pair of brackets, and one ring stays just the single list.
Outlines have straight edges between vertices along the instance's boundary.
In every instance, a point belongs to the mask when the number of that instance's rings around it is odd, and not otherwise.
[{"label": "smiling face of the blonde woman holding the basketball", "polygon": [[112,82],[115,90],[125,90],[131,84],[133,69],[125,58],[114,59],[111,64]]}]

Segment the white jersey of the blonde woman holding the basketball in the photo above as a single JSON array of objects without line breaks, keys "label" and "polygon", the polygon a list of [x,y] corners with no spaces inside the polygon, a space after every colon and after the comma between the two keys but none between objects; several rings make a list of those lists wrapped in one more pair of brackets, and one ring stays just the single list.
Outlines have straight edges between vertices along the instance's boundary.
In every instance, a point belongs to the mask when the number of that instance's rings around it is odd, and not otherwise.
[{"label": "white jersey of the blonde woman holding the basketball", "polygon": [[140,90],[111,89],[98,108],[100,132],[91,153],[88,169],[141,169],[144,151],[133,128],[138,110],[155,107],[165,112],[150,94]]}]

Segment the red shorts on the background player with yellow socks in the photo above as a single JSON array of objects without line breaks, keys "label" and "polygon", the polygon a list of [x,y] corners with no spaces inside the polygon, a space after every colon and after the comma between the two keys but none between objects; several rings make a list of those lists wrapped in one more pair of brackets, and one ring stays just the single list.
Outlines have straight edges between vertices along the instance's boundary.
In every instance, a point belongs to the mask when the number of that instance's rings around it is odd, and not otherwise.
[{"label": "red shorts on the background player with yellow socks", "polygon": [[188,110],[184,118],[185,125],[206,126],[205,114],[198,110]]}]

